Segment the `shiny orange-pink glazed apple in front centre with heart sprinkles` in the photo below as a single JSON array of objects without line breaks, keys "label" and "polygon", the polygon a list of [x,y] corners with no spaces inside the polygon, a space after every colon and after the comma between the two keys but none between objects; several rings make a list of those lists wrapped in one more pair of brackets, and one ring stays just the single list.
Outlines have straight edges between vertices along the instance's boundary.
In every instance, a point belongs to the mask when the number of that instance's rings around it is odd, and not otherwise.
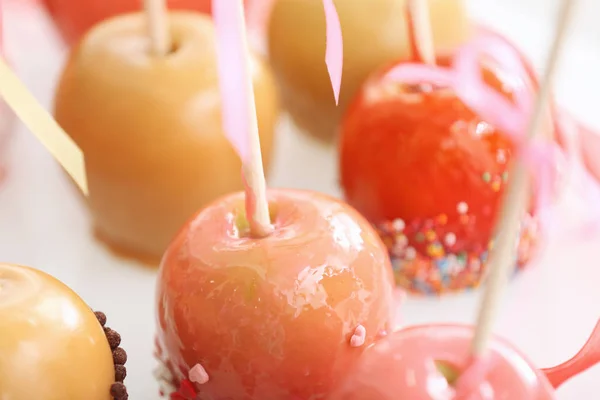
[{"label": "shiny orange-pink glazed apple in front centre with heart sprinkles", "polygon": [[200,211],[165,253],[158,354],[188,396],[325,399],[392,323],[389,258],[367,221],[314,192],[268,198],[270,236],[248,236],[236,193]]}]

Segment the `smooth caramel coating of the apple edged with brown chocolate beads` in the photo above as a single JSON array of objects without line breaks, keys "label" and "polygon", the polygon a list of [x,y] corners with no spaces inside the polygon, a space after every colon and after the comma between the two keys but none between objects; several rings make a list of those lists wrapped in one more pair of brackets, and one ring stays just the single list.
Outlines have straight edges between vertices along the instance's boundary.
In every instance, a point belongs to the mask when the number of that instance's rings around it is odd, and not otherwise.
[{"label": "smooth caramel coating of the apple edged with brown chocolate beads", "polygon": [[0,264],[0,399],[111,400],[115,370],[92,310],[57,279]]}]

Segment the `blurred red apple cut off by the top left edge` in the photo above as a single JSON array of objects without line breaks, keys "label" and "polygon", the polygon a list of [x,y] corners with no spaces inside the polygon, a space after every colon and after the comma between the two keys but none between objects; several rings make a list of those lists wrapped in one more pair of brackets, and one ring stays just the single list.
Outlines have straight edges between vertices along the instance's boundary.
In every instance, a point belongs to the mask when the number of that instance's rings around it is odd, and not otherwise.
[{"label": "blurred red apple cut off by the top left edge", "polygon": [[[90,28],[119,14],[140,11],[140,0],[43,0],[67,44],[77,42]],[[211,0],[167,0],[170,10],[210,13]]]}]

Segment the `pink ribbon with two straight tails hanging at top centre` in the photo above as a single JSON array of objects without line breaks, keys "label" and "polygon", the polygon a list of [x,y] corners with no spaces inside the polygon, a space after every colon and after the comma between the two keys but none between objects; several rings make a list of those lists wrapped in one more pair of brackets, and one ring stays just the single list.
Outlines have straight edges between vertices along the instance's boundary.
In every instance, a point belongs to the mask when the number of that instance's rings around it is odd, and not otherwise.
[{"label": "pink ribbon with two straight tails hanging at top centre", "polygon": [[[236,3],[240,1],[212,0],[212,10],[217,33],[223,128],[242,162],[247,163],[250,157],[250,129],[256,123],[256,106],[246,50],[244,15],[240,12],[240,9],[243,10],[243,5]],[[268,12],[271,6],[272,4],[267,4],[265,12]],[[342,30],[333,0],[323,0],[323,7],[327,23],[325,63],[337,104],[343,68]]]}]

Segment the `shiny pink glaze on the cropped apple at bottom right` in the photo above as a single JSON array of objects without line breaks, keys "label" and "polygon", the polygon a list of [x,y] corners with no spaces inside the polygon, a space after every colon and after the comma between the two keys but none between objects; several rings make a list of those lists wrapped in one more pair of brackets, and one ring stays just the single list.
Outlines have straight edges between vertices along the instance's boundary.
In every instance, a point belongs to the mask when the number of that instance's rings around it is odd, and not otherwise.
[{"label": "shiny pink glaze on the cropped apple at bottom right", "polygon": [[[462,370],[473,327],[424,325],[395,332],[363,353],[345,382],[328,400],[451,400],[453,387],[437,370],[443,361]],[[470,397],[461,400],[552,400],[543,373],[507,342],[494,339],[488,373]]]}]

